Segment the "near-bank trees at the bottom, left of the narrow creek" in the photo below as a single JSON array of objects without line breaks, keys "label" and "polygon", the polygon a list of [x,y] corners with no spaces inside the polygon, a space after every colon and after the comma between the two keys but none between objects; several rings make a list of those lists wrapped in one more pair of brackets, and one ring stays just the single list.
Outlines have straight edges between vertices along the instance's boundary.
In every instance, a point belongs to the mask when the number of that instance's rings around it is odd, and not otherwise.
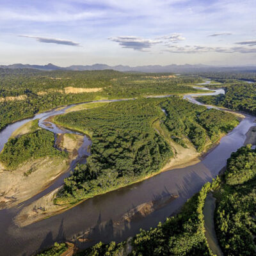
[{"label": "near-bank trees at the bottom, left of the narrow creek", "polygon": [[[212,183],[207,182],[199,193],[188,200],[177,216],[167,218],[156,228],[150,228],[148,231],[141,230],[131,241],[132,251],[129,255],[212,255],[204,234],[203,208],[207,193],[219,186],[219,178],[213,180]],[[77,255],[122,255],[126,244],[127,242],[98,243]]]}]

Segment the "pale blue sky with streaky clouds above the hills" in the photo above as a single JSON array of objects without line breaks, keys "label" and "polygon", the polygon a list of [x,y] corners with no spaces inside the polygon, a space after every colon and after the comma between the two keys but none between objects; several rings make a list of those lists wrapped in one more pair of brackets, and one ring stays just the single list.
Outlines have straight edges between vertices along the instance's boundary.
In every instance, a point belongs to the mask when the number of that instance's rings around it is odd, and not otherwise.
[{"label": "pale blue sky with streaky clouds above the hills", "polygon": [[1,0],[0,64],[256,65],[255,0]]}]

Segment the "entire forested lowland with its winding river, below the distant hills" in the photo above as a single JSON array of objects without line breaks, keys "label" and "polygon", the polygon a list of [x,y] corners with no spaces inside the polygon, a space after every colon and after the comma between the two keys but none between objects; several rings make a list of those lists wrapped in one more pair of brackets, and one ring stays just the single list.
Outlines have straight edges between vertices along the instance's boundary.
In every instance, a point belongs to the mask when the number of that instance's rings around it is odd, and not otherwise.
[{"label": "entire forested lowland with its winding river, below the distant hills", "polygon": [[13,255],[255,255],[253,72],[0,79]]}]

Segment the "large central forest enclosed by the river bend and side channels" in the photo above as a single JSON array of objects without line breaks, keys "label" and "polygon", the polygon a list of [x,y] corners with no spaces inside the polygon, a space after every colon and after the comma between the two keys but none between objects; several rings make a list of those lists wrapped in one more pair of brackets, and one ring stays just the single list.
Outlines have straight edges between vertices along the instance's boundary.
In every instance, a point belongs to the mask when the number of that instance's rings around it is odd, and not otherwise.
[{"label": "large central forest enclosed by the river bend and side channels", "polygon": [[[154,129],[157,120],[168,138]],[[173,156],[170,138],[185,141],[184,147],[195,145],[200,152],[239,123],[230,113],[178,97],[112,102],[57,116],[55,122],[92,138],[92,155],[65,180],[57,204],[74,203],[158,172]]]}]

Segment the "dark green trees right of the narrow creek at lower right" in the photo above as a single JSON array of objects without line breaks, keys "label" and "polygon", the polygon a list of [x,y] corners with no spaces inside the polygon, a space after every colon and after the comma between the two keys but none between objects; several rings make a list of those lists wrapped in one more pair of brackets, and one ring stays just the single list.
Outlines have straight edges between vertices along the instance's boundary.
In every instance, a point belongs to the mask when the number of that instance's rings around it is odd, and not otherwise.
[{"label": "dark green trees right of the narrow creek at lower right", "polygon": [[218,193],[216,233],[225,255],[256,255],[256,152],[250,145],[232,154]]}]

